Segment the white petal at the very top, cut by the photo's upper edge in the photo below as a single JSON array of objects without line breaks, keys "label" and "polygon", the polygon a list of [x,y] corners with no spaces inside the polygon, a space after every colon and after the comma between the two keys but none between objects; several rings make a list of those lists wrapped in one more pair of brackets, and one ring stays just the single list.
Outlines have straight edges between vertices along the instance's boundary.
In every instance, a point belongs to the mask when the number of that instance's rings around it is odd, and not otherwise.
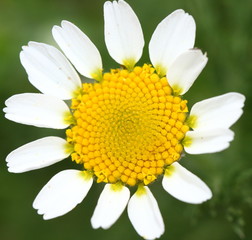
[{"label": "white petal at the very top, cut by the photo's upper edge", "polygon": [[122,0],[105,2],[105,42],[110,56],[126,67],[140,59],[144,46],[140,22],[132,8]]}]

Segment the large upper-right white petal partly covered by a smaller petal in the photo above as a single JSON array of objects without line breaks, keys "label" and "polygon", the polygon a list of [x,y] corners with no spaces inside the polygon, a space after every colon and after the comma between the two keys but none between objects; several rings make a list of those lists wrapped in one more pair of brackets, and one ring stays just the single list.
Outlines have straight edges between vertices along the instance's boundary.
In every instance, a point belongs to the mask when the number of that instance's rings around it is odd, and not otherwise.
[{"label": "large upper-right white petal partly covered by a smaller petal", "polygon": [[152,64],[162,75],[181,53],[193,48],[195,31],[193,17],[181,9],[159,23],[151,37],[149,52]]}]

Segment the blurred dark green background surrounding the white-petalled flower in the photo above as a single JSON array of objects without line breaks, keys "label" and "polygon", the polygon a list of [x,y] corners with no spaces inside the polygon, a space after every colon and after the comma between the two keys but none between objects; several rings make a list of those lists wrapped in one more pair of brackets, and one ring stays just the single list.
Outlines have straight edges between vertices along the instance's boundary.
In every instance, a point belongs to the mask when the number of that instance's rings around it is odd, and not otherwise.
[{"label": "blurred dark green background surrounding the white-petalled flower", "polygon": [[[252,2],[250,0],[128,0],[145,33],[145,53],[140,63],[149,62],[148,42],[156,25],[169,13],[183,8],[197,24],[195,46],[206,51],[209,62],[186,94],[189,105],[202,99],[237,91],[246,95],[245,113],[232,129],[235,140],[221,153],[187,155],[182,160],[189,170],[212,189],[212,200],[189,205],[169,196],[160,180],[151,185],[166,225],[160,239],[236,240],[252,239],[251,77]],[[117,67],[109,57],[103,37],[104,0],[0,0],[0,108],[13,94],[37,92],[28,82],[19,61],[21,46],[39,41],[56,46],[53,25],[63,19],[79,26],[96,44],[104,68]],[[36,171],[11,174],[6,155],[15,148],[64,131],[39,129],[4,119],[0,115],[0,239],[140,239],[126,211],[109,230],[93,230],[90,218],[102,184],[94,184],[87,198],[73,211],[44,221],[32,208],[43,185],[57,172],[75,168],[70,159]]]}]

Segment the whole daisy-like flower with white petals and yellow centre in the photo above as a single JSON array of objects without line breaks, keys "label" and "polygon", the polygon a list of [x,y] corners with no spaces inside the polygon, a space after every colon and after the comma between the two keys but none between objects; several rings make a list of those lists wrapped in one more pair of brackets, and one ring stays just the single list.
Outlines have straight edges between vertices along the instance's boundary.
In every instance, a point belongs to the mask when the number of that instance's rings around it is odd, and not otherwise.
[{"label": "whole daisy-like flower with white petals and yellow centre", "polygon": [[[83,201],[93,182],[104,184],[91,224],[107,229],[127,207],[136,232],[159,238],[164,222],[150,186],[162,178],[173,197],[199,204],[212,197],[208,186],[180,165],[189,154],[229,147],[230,127],[242,114],[245,97],[231,92],[200,101],[188,110],[183,97],[207,63],[194,48],[196,25],[183,10],[168,15],[155,29],[150,62],[141,58],[140,22],[123,0],[104,4],[105,43],[120,65],[103,71],[92,41],[74,24],[62,21],[52,34],[64,55],[38,42],[24,46],[20,59],[30,83],[41,93],[6,100],[9,120],[66,129],[66,138],[49,136],[27,143],[7,156],[10,172],[46,167],[71,157],[81,170],[53,176],[34,200],[44,219],[66,214]],[[79,74],[93,82],[82,82]],[[70,101],[69,101],[70,100]],[[130,187],[137,187],[130,196]]]}]

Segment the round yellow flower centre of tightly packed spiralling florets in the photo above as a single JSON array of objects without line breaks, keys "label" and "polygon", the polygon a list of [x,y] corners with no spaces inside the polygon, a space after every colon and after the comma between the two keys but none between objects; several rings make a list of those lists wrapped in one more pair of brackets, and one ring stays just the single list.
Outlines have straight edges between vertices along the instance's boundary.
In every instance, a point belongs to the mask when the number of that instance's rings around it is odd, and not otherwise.
[{"label": "round yellow flower centre of tightly packed spiralling florets", "polygon": [[97,182],[148,185],[181,156],[186,104],[151,65],[84,83],[72,100],[75,123],[66,131],[72,160]]}]

